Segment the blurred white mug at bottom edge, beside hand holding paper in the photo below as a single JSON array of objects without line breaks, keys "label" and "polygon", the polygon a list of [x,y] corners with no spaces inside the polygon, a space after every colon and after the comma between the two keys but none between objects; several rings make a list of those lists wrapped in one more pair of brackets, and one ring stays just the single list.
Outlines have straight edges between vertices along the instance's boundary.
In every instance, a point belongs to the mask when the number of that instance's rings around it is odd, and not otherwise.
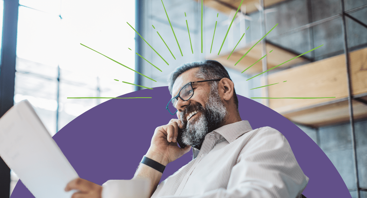
[{"label": "blurred white mug at bottom edge, beside hand holding paper", "polygon": [[146,179],[108,180],[102,184],[102,198],[148,198]]}]

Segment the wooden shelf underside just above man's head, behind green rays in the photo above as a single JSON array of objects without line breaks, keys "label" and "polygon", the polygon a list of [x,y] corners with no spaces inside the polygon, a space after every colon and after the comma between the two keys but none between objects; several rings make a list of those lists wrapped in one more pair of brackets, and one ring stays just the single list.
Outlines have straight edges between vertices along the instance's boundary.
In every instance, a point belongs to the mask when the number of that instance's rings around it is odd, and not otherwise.
[{"label": "wooden shelf underside just above man's head, behind green rays", "polygon": [[[257,41],[255,41],[254,43],[250,43],[249,45],[243,48],[237,48],[232,53],[232,55],[229,57],[229,59],[227,58],[231,52],[222,53],[219,56],[208,56],[206,58],[209,60],[216,60],[220,62],[222,65],[224,65],[225,67],[235,69],[239,72],[242,72],[262,57],[262,54],[261,54],[262,45],[260,42],[257,45],[255,45],[256,42]],[[254,48],[251,49],[252,46],[254,46]],[[248,54],[235,66],[236,62],[240,60],[240,58],[244,54],[246,54],[246,52],[249,49],[251,49],[251,51],[248,52]],[[269,53],[270,50],[273,50],[273,51]],[[267,52],[266,58],[268,61],[268,69],[273,68],[279,64],[282,64],[283,62],[288,61],[299,55],[294,52],[290,52],[289,50],[283,49],[279,46],[275,46],[274,44],[270,44],[267,41],[266,41],[266,52]],[[304,61],[307,61],[307,60],[303,57],[297,57],[289,62],[286,62],[285,64],[278,66],[276,69],[284,68],[284,67],[294,65],[300,62],[304,62]],[[255,73],[261,73],[261,72],[262,72],[262,61],[259,61],[255,65],[247,69],[244,73],[255,74]]]}]

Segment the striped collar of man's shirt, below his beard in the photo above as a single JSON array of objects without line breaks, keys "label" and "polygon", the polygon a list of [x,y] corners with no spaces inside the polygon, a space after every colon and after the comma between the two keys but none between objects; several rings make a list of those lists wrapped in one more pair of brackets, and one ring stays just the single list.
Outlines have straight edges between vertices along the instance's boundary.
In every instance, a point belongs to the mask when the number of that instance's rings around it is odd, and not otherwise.
[{"label": "striped collar of man's shirt, below his beard", "polygon": [[[250,123],[247,120],[243,120],[228,125],[224,125],[222,127],[219,127],[218,129],[215,129],[213,132],[219,133],[230,143],[249,131],[252,131]],[[205,136],[205,139],[209,140],[218,139],[218,135],[216,135],[216,133],[211,132]]]}]

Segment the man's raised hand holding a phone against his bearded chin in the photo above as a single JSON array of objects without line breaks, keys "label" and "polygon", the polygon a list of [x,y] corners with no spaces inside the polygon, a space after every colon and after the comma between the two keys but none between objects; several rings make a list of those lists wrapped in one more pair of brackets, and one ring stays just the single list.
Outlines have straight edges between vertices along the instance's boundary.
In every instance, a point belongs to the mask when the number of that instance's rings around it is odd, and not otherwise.
[{"label": "man's raised hand holding a phone against his bearded chin", "polygon": [[177,146],[178,127],[182,127],[178,119],[171,119],[168,125],[157,127],[145,156],[166,166],[189,152],[191,146],[183,149]]}]

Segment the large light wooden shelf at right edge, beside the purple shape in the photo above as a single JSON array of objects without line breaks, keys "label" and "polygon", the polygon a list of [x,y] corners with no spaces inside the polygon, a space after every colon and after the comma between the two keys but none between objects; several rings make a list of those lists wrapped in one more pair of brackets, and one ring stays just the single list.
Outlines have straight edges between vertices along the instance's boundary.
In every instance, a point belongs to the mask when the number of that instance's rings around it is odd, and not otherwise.
[{"label": "large light wooden shelf at right edge, beside the purple shape", "polygon": [[[367,100],[367,48],[349,57],[352,94]],[[344,54],[275,72],[268,76],[268,84],[279,84],[268,87],[269,98],[335,98],[269,99],[269,107],[291,121],[315,127],[348,121],[347,82]],[[367,117],[367,104],[357,100],[352,104],[355,119]]]}]

